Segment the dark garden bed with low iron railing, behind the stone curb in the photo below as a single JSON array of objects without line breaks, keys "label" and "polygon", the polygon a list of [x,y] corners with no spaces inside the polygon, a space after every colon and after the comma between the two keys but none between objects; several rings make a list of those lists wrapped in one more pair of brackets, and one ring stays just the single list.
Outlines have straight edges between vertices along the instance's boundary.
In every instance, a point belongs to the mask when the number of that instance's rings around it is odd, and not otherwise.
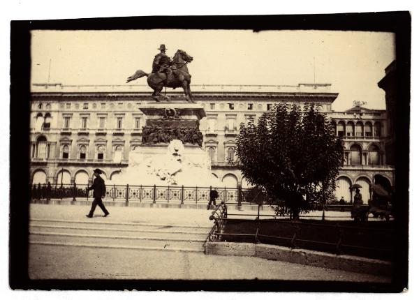
[{"label": "dark garden bed with low iron railing, behind the stone curb", "polygon": [[[291,220],[243,220],[219,216],[221,207],[210,216],[214,227],[207,240],[269,243],[290,248],[320,250],[337,255],[357,255],[391,260],[394,253],[395,230],[391,227],[365,227],[358,224],[294,223]],[[274,230],[272,230],[274,225]]]}]

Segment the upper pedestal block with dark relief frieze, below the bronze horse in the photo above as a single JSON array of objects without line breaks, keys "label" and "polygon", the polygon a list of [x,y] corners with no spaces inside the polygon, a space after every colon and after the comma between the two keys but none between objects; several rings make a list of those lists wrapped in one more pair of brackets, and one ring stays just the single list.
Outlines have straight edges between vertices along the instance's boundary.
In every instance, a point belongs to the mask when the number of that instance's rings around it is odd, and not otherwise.
[{"label": "upper pedestal block with dark relief frieze, below the bronze horse", "polygon": [[181,140],[184,144],[202,146],[199,121],[205,117],[203,107],[190,103],[149,103],[140,110],[147,116],[146,126],[142,128],[143,143]]}]

